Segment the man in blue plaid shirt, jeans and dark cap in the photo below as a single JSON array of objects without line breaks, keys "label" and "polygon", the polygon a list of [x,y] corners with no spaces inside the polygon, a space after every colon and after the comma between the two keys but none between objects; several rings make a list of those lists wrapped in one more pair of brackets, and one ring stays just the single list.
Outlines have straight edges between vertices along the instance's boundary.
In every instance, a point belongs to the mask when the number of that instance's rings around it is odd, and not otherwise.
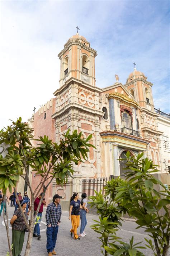
[{"label": "man in blue plaid shirt, jeans and dark cap", "polygon": [[53,202],[49,203],[46,210],[47,222],[47,252],[49,256],[57,254],[54,250],[56,246],[58,226],[61,222],[61,205],[58,194],[53,196]]}]

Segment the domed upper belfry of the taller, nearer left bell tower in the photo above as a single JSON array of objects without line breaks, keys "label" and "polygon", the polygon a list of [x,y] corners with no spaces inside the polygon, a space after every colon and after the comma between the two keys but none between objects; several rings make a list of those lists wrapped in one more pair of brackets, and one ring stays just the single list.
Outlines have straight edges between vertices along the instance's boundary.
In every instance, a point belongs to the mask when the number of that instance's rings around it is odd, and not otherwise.
[{"label": "domed upper belfry of the taller, nearer left bell tower", "polygon": [[60,59],[60,87],[70,78],[76,78],[95,86],[95,62],[97,53],[90,43],[79,33],[70,37],[64,49],[58,54]]}]

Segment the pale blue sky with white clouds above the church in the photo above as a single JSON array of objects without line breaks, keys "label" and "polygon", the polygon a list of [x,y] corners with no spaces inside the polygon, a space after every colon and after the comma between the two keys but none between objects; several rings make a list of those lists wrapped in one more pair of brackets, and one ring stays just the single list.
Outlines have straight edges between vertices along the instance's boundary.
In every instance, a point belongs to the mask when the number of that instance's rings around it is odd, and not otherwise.
[{"label": "pale blue sky with white clouds above the church", "polygon": [[95,58],[97,87],[126,79],[134,69],[152,82],[155,108],[169,113],[170,1],[0,1],[0,129],[59,88],[58,53],[76,34],[86,37]]}]

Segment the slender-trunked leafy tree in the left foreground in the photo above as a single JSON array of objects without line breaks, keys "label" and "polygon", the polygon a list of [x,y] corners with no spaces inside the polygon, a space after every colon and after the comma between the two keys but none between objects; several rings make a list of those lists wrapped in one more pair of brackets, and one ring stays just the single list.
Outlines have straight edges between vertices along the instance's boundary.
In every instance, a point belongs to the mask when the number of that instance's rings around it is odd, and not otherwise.
[{"label": "slender-trunked leafy tree in the left foreground", "polygon": [[[27,246],[25,250],[25,256],[30,254],[30,248],[32,243],[33,229],[36,220],[36,215],[42,203],[42,199],[46,190],[55,178],[57,184],[67,183],[68,177],[72,177],[74,169],[72,163],[78,165],[82,161],[87,160],[87,152],[89,147],[94,145],[89,144],[89,140],[92,135],[89,135],[85,140],[82,138],[82,133],[77,133],[75,130],[70,134],[70,130],[63,135],[63,139],[60,140],[60,144],[52,143],[48,136],[44,135],[37,139],[37,146],[32,146],[33,130],[30,129],[27,123],[22,122],[22,118],[19,117],[16,122],[12,121],[12,125],[8,126],[5,130],[0,131],[0,144],[3,150],[0,154],[0,189],[6,194],[6,190],[9,189],[12,193],[14,188],[16,198],[16,185],[19,178],[23,178],[28,184],[31,193],[30,200],[30,226],[22,211],[25,223],[29,230]],[[95,148],[95,147],[94,147]],[[32,167],[36,174],[41,175],[41,182],[38,187],[33,191],[29,178],[29,168]],[[25,176],[23,175],[25,173]],[[36,214],[34,215],[34,200],[43,190],[42,198],[39,202]],[[19,200],[17,200],[19,203]],[[22,207],[19,203],[19,208]],[[5,216],[4,216],[5,220]],[[8,230],[8,211],[6,214],[6,230],[9,244],[9,254],[11,254],[11,246],[9,240]]]}]

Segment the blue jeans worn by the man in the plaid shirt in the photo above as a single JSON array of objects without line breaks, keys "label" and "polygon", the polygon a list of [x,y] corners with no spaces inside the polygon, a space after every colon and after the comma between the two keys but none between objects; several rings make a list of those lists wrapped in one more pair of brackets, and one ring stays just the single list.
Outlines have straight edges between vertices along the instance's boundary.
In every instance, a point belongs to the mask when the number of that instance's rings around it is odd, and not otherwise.
[{"label": "blue jeans worn by the man in the plaid shirt", "polygon": [[52,252],[56,246],[57,234],[58,234],[58,226],[56,227],[48,227],[47,226],[47,252]]}]

